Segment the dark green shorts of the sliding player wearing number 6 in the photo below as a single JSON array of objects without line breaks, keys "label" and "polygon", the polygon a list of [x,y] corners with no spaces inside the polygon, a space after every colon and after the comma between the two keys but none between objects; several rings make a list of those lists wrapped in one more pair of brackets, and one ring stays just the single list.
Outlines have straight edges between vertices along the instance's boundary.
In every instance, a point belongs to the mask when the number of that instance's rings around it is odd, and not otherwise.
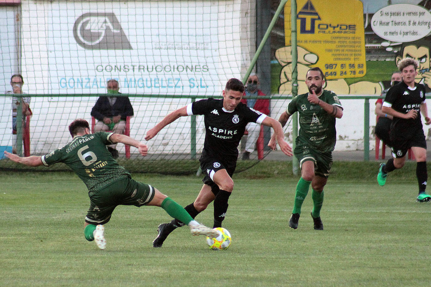
[{"label": "dark green shorts of the sliding player wearing number 6", "polygon": [[151,185],[131,178],[120,179],[91,194],[85,222],[94,225],[105,224],[111,219],[112,212],[117,206],[141,207],[153,199],[154,193]]}]

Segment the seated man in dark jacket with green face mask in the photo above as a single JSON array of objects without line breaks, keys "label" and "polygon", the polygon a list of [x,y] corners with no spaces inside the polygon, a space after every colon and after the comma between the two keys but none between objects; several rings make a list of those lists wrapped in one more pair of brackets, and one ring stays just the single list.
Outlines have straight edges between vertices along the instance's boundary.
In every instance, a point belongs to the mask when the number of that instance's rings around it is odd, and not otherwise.
[{"label": "seated man in dark jacket with green face mask", "polygon": [[[109,80],[106,83],[107,92],[110,95],[120,94],[119,83]],[[133,107],[128,97],[102,96],[97,99],[96,105],[91,110],[91,116],[97,119],[94,132],[111,130],[114,133],[124,134],[126,118],[133,116]],[[118,158],[115,145],[108,145],[108,151],[112,157]]]}]

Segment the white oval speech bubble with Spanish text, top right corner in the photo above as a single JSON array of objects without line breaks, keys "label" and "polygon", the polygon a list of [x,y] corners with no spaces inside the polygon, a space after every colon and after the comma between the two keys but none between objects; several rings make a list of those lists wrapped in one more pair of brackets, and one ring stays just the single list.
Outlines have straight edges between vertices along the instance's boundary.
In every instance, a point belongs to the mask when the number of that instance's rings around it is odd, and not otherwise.
[{"label": "white oval speech bubble with Spanish text, top right corner", "polygon": [[375,12],[371,27],[376,35],[392,42],[412,42],[431,31],[431,13],[412,4],[394,4]]}]

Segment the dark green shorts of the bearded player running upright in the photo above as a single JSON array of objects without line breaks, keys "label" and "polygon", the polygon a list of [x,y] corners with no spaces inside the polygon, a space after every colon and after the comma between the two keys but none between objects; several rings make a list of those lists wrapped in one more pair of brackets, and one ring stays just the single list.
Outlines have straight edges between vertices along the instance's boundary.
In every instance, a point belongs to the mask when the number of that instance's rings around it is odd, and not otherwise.
[{"label": "dark green shorts of the bearded player running upright", "polygon": [[311,160],[314,162],[314,174],[325,179],[329,177],[329,170],[332,167],[332,152],[320,152],[314,148],[309,148],[302,142],[296,141],[294,154],[299,160],[300,168],[302,168],[305,161]]}]

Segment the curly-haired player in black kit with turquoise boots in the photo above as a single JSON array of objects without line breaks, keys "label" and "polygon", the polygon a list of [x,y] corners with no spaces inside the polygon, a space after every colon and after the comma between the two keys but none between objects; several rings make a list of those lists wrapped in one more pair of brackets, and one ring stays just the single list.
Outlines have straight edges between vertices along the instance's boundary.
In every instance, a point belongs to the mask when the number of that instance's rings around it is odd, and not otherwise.
[{"label": "curly-haired player in black kit with turquoise boots", "polygon": [[425,86],[415,83],[419,63],[415,59],[406,58],[398,63],[403,80],[387,91],[382,111],[394,117],[390,125],[390,142],[392,156],[386,164],[381,164],[377,175],[379,185],[386,183],[387,173],[400,169],[406,162],[406,153],[412,149],[416,159],[416,177],[419,184],[418,202],[431,201],[425,192],[427,187],[427,145],[422,128],[421,114],[425,124],[429,125],[427,104],[425,103]]}]

